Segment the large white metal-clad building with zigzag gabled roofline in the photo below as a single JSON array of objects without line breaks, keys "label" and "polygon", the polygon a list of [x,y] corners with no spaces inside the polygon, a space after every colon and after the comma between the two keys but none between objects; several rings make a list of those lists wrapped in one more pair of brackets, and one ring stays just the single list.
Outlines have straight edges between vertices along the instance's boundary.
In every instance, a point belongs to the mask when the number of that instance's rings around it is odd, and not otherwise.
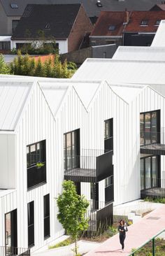
[{"label": "large white metal-clad building with zigzag gabled roofline", "polygon": [[1,75],[2,256],[64,234],[64,178],[90,200],[90,227],[111,222],[113,204],[165,195],[165,61],[154,50],[152,60],[87,59],[72,79]]}]

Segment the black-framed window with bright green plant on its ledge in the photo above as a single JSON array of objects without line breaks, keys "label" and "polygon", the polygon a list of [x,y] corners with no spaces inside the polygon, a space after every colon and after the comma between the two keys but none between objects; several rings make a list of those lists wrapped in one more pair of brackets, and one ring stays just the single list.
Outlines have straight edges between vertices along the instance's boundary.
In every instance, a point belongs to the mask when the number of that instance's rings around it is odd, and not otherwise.
[{"label": "black-framed window with bright green plant on its ledge", "polygon": [[46,183],[46,142],[27,145],[27,188]]}]

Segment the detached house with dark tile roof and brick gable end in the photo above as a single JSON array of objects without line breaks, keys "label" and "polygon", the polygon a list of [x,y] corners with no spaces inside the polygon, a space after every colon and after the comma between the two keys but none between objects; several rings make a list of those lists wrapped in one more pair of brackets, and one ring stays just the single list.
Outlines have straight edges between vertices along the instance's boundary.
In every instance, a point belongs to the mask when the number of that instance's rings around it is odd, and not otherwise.
[{"label": "detached house with dark tile roof and brick gable end", "polygon": [[50,43],[55,39],[59,53],[78,50],[85,34],[93,25],[80,3],[76,4],[29,4],[11,38],[11,48],[24,44]]}]

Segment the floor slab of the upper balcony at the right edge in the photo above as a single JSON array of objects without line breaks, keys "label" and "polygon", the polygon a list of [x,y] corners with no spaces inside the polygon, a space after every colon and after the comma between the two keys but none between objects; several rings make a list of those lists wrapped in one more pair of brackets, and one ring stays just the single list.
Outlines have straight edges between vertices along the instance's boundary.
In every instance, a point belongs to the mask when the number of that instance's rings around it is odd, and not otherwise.
[{"label": "floor slab of the upper balcony at the right edge", "polygon": [[141,154],[165,155],[165,144],[153,143],[141,145]]}]

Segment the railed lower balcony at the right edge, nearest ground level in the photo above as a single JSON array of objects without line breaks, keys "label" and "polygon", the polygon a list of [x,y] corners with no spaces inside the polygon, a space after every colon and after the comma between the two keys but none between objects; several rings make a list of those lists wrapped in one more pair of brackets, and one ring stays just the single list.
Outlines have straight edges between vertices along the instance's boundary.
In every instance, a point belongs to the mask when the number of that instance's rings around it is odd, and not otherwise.
[{"label": "railed lower balcony at the right edge, nearest ground level", "polygon": [[165,178],[141,178],[141,199],[165,197]]}]

